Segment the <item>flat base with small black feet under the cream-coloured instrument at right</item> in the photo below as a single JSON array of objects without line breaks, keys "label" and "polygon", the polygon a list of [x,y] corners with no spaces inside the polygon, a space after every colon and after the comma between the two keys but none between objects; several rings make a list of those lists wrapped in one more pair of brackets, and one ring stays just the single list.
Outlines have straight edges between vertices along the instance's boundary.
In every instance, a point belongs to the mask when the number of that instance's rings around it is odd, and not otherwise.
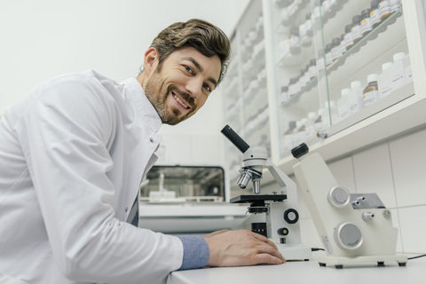
[{"label": "flat base with small black feet under the cream-coloured instrument at right", "polygon": [[396,261],[399,266],[406,266],[407,258],[403,255],[393,256],[319,256],[319,266],[327,264],[335,266],[337,269],[342,269],[343,265],[347,264],[367,264],[377,263],[378,266],[384,266],[385,261]]}]

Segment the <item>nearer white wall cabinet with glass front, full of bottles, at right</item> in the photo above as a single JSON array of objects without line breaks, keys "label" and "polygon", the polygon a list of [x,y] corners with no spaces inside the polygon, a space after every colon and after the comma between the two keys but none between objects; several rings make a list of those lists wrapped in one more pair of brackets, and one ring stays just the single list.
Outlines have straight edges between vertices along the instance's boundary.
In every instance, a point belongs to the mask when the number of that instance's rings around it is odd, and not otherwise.
[{"label": "nearer white wall cabinet with glass front, full of bottles, at right", "polygon": [[[328,161],[426,123],[423,1],[264,0],[261,11],[266,91],[250,92],[268,97],[262,126],[282,170],[292,173],[290,150],[302,142]],[[247,12],[236,37],[256,21],[248,19]]]}]

